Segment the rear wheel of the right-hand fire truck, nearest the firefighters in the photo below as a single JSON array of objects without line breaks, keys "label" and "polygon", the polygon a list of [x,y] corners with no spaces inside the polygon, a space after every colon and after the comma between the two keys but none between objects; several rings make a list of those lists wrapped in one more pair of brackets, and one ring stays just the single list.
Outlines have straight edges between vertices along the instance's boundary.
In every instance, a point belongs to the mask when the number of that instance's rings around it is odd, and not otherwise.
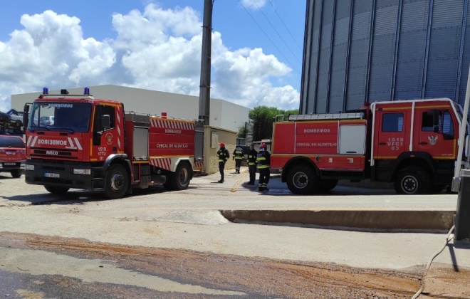
[{"label": "rear wheel of the right-hand fire truck, nearest the firefighters", "polygon": [[287,174],[287,187],[293,194],[312,194],[316,191],[317,176],[312,167],[296,165]]}]

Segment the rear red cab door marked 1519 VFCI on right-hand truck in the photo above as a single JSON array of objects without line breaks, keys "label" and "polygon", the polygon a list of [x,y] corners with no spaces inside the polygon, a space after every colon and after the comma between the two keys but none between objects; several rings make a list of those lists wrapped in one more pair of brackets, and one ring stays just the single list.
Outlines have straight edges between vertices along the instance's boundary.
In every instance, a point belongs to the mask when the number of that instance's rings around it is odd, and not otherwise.
[{"label": "rear red cab door marked 1519 VFCI on right-hand truck", "polygon": [[407,150],[409,109],[378,108],[375,115],[374,158],[395,159]]}]

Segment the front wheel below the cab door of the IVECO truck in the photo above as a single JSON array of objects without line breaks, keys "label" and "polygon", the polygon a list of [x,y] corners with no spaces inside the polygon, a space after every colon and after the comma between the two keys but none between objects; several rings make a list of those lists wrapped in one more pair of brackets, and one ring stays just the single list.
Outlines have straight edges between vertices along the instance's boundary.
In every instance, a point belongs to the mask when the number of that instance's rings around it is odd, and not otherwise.
[{"label": "front wheel below the cab door of the IVECO truck", "polygon": [[120,199],[129,187],[129,175],[121,164],[112,164],[105,180],[105,196],[108,199]]}]

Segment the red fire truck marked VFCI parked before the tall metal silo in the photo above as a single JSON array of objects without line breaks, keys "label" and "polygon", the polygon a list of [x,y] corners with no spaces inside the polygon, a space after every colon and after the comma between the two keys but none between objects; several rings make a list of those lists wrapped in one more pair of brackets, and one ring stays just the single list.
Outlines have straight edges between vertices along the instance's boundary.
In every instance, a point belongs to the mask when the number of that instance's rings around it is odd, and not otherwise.
[{"label": "red fire truck marked VFCI parked before the tall metal silo", "polygon": [[393,182],[397,194],[439,193],[454,177],[459,145],[469,144],[468,130],[459,137],[461,123],[461,106],[449,99],[376,102],[288,120],[280,115],[271,167],[295,194],[329,191],[339,179]]}]

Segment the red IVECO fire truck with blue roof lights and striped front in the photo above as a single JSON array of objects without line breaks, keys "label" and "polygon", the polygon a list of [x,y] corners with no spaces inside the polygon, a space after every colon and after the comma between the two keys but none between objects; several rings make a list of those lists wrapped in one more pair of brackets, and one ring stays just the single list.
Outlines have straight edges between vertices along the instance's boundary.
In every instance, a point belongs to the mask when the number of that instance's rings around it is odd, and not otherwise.
[{"label": "red IVECO fire truck with blue roof lights and striped front", "polygon": [[53,194],[88,189],[117,199],[154,184],[186,189],[203,167],[204,122],[125,112],[89,88],[83,95],[44,88],[24,115],[26,183]]}]

